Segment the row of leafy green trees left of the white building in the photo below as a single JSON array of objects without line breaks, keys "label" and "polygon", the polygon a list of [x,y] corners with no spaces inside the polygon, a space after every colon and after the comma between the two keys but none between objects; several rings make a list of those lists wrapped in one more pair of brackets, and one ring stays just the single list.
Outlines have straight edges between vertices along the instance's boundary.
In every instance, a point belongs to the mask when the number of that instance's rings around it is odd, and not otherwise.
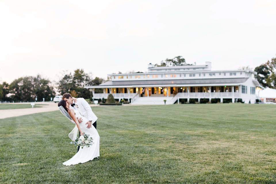
[{"label": "row of leafy green trees left of the white building", "polygon": [[[103,78],[92,78],[91,73],[85,73],[83,69],[76,69],[73,73],[64,71],[64,76],[57,82],[51,82],[47,78],[37,76],[24,76],[15,79],[10,84],[0,84],[0,101],[50,101],[56,92],[60,94],[71,93],[74,97],[91,98],[92,92],[84,87],[87,85],[99,85]],[[102,93],[103,89],[95,90]]]}]

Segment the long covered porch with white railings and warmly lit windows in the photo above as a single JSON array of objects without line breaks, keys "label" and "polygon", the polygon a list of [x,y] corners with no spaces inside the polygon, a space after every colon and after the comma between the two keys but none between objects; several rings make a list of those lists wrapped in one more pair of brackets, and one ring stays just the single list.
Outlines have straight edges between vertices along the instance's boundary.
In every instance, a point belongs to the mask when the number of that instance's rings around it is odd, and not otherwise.
[{"label": "long covered porch with white railings and warmly lit windows", "polygon": [[[94,91],[92,89],[92,91]],[[133,101],[137,97],[172,97],[173,99],[240,98],[239,86],[190,86],[190,87],[133,87],[104,88],[103,93],[93,93],[93,99],[107,99],[112,94],[115,99]],[[234,100],[232,100],[234,101]]]}]

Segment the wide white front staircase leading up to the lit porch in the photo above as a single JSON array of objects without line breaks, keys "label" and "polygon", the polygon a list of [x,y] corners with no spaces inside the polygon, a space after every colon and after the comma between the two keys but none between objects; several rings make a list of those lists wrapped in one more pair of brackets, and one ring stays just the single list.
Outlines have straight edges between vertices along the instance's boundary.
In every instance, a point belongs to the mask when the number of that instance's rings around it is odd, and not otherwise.
[{"label": "wide white front staircase leading up to the lit porch", "polygon": [[174,97],[136,97],[131,104],[143,104],[143,105],[164,105],[164,100],[166,104],[174,104],[177,98]]}]

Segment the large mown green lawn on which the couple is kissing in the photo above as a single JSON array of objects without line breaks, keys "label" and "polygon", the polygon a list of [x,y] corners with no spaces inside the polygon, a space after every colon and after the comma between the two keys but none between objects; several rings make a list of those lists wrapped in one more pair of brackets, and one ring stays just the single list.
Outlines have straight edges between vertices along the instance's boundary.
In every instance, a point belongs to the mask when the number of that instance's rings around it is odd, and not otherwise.
[{"label": "large mown green lawn on which the couple is kissing", "polygon": [[98,106],[100,159],[59,111],[0,120],[1,183],[276,183],[276,106]]}]

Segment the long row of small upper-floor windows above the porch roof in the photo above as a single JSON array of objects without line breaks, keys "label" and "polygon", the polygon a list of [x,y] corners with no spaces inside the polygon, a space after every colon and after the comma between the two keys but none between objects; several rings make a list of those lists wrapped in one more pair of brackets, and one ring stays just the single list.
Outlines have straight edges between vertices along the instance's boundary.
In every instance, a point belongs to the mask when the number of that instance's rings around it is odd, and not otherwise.
[{"label": "long row of small upper-floor windows above the porch roof", "polygon": [[[221,72],[221,73],[209,73],[209,76],[216,76],[216,74],[218,74],[218,76],[226,76],[226,72]],[[187,74],[188,75],[188,74]],[[229,75],[230,76],[236,76],[237,75],[237,72],[229,72]],[[240,72],[240,75],[242,75],[242,72]],[[152,76],[152,78],[158,78],[158,75],[155,75],[155,74],[151,74],[151,75],[142,75],[143,78],[150,78],[150,76]],[[161,78],[163,78],[163,76],[165,76],[166,78],[168,77],[171,77],[171,78],[174,78],[174,77],[186,77],[186,74],[161,74]],[[196,74],[189,74],[189,77],[195,77]],[[201,77],[201,73],[198,74],[199,77]],[[203,73],[203,76],[205,77],[206,76],[206,73]],[[115,79],[116,76],[113,76],[113,78]],[[119,79],[121,78],[124,78],[124,75],[119,75],[118,76]],[[126,75],[126,78],[132,78],[132,75],[128,76]],[[141,75],[134,75],[134,78],[141,78]]]}]

